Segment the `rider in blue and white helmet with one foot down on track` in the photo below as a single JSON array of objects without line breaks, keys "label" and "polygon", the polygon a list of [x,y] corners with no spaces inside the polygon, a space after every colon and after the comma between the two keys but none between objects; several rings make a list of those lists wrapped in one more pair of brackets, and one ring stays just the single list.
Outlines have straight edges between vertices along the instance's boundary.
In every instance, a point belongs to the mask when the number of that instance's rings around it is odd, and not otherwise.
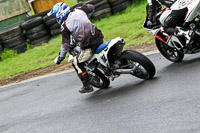
[{"label": "rider in blue and white helmet with one foot down on track", "polygon": [[68,5],[60,2],[54,5],[48,13],[48,16],[53,14],[61,24],[62,45],[59,56],[54,60],[56,64],[60,64],[69,51],[70,35],[80,44],[81,53],[72,62],[74,69],[83,83],[83,87],[79,90],[80,93],[93,91],[89,75],[84,68],[84,62],[92,57],[97,47],[103,43],[104,38],[101,31],[89,20],[93,12],[94,6],[91,4],[86,4],[74,9],[74,11],[70,11]]}]

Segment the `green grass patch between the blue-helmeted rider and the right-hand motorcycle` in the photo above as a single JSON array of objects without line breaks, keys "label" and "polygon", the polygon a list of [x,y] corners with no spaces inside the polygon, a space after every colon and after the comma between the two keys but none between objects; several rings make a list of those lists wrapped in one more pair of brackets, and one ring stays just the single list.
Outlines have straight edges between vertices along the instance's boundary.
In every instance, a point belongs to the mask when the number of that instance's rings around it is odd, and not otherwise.
[{"label": "green grass patch between the blue-helmeted rider and the right-hand motorcycle", "polygon": [[142,28],[146,16],[146,1],[134,3],[122,13],[108,16],[100,21],[93,21],[101,29],[105,40],[118,36],[125,39],[127,45],[141,44],[152,39]]}]

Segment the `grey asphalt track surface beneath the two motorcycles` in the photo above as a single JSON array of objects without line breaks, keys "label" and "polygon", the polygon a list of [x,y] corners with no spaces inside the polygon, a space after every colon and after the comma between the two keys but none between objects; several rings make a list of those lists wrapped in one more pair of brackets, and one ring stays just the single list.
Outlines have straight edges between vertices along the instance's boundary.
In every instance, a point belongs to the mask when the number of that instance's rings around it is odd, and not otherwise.
[{"label": "grey asphalt track surface beneath the two motorcycles", "polygon": [[89,94],[74,71],[0,87],[0,133],[199,133],[200,54],[148,58],[154,79],[122,75]]}]

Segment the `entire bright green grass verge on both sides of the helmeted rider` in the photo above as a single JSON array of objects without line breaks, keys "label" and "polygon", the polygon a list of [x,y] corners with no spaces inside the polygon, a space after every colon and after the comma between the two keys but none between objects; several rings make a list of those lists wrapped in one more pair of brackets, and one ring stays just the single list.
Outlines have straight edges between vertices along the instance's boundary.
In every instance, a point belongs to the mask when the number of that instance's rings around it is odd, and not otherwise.
[{"label": "entire bright green grass verge on both sides of the helmeted rider", "polygon": [[[68,0],[70,6],[75,3],[74,0]],[[120,36],[125,39],[127,46],[145,43],[153,38],[142,28],[145,6],[145,1],[135,3],[122,13],[92,22],[101,29],[105,41]],[[0,62],[0,79],[53,65],[53,60],[60,51],[60,45],[61,35],[42,46],[29,48],[23,54],[17,55],[15,52],[5,51],[1,56],[3,61]]]}]

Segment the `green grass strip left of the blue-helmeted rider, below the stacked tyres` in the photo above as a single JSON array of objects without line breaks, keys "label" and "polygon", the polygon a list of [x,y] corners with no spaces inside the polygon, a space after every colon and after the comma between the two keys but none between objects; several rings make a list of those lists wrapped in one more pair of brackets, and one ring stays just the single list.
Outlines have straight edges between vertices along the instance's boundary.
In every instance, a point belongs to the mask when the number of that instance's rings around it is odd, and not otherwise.
[{"label": "green grass strip left of the blue-helmeted rider, below the stacked tyres", "polygon": [[3,61],[0,62],[0,79],[53,65],[53,59],[58,55],[60,44],[61,35],[52,39],[48,44],[45,43],[42,46],[28,49],[26,53],[12,58],[2,58]]}]

